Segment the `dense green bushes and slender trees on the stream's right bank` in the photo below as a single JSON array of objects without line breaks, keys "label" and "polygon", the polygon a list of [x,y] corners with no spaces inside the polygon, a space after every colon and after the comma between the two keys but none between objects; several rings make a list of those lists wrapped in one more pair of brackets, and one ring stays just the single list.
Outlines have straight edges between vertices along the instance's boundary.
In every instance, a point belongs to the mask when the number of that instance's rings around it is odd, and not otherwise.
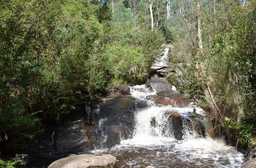
[{"label": "dense green bushes and slender trees on the stream's right bank", "polygon": [[[164,28],[180,35],[169,39],[176,47],[172,59],[182,71],[182,90],[205,109],[215,130],[229,132],[240,142],[249,143],[256,136],[256,2],[199,2],[200,10],[195,0],[172,1],[174,11],[166,23],[172,26],[168,26],[169,30]],[[177,30],[175,24],[181,29]]]}]

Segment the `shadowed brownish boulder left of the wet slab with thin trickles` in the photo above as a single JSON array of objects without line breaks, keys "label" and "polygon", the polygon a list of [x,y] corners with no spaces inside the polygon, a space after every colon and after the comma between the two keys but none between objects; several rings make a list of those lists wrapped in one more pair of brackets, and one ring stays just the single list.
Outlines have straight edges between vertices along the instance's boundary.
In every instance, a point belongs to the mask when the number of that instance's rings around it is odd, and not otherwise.
[{"label": "shadowed brownish boulder left of the wet slab with thin trickles", "polygon": [[55,137],[56,149],[62,153],[78,152],[84,149],[93,149],[91,140],[88,138],[82,121],[73,122],[62,126]]}]

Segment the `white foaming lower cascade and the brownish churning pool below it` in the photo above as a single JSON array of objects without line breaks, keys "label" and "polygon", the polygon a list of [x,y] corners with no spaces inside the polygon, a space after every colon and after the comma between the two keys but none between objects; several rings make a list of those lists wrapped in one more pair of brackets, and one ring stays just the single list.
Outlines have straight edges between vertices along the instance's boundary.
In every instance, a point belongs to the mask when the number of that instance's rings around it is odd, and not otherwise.
[{"label": "white foaming lower cascade and the brownish churning pool below it", "polygon": [[[91,153],[116,156],[118,168],[239,168],[242,164],[244,155],[234,147],[196,130],[189,118],[193,108],[157,105],[148,99],[155,93],[144,85],[131,87],[131,93],[136,100],[146,100],[148,104],[134,111],[136,126],[132,138],[122,139],[110,149],[97,148]],[[182,140],[174,138],[170,115],[166,111],[175,111],[184,119]],[[199,108],[196,111],[203,113]]]}]

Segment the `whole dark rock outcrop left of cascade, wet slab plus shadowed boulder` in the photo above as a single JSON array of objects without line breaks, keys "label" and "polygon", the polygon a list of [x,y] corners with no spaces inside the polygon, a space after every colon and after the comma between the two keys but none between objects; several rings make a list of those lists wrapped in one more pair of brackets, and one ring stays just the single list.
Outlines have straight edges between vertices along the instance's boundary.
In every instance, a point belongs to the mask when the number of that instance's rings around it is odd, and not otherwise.
[{"label": "whole dark rock outcrop left of cascade, wet slab plus shadowed boulder", "polygon": [[111,148],[132,138],[134,111],[147,107],[146,101],[130,96],[95,100],[84,107],[84,119],[62,126],[54,135],[56,149],[62,154],[97,148]]}]

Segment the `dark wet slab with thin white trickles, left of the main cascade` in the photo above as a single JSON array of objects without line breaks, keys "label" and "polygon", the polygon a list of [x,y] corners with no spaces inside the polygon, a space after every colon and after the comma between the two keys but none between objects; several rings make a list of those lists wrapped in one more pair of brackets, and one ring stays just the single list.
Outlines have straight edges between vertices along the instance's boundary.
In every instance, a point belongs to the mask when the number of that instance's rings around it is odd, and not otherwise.
[{"label": "dark wet slab with thin white trickles, left of the main cascade", "polygon": [[96,146],[111,148],[120,144],[121,140],[131,138],[135,126],[134,111],[137,104],[134,98],[118,96],[102,99],[96,103],[100,109],[95,115],[98,116],[98,121],[103,119],[102,126],[99,126],[99,122],[96,123],[96,130],[89,125],[92,131],[97,132]]}]

